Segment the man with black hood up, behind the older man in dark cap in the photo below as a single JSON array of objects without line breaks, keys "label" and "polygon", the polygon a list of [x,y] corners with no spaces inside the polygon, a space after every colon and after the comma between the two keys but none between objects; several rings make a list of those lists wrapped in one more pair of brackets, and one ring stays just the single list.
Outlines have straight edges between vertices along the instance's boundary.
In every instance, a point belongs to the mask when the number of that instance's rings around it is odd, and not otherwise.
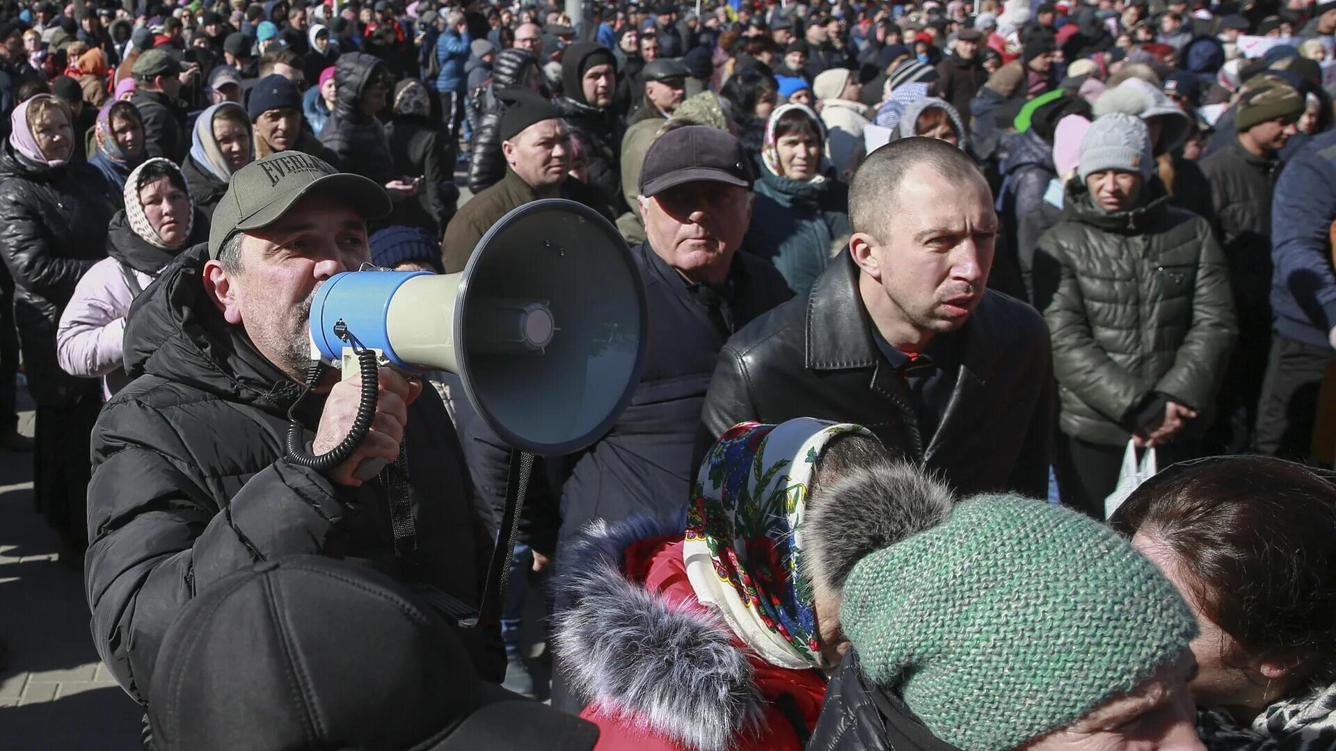
[{"label": "man with black hood up, behind the older man in dark cap", "polygon": [[[667,57],[667,55],[665,55]],[[589,160],[589,187],[599,200],[616,214],[621,206],[621,172],[617,167],[617,112],[612,106],[617,92],[617,60],[597,41],[581,41],[561,57],[561,90],[557,100],[570,138]]]}]

